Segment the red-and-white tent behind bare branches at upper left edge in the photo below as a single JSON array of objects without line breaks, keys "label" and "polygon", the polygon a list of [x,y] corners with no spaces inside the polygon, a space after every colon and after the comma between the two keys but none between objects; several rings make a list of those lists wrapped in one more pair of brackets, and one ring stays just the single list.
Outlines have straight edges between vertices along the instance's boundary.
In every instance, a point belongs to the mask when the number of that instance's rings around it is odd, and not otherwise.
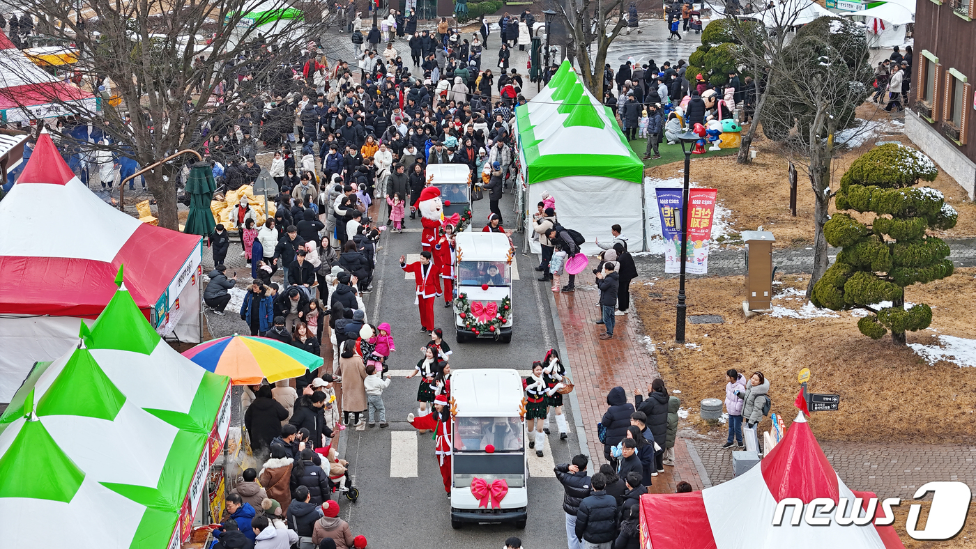
[{"label": "red-and-white tent behind bare branches at upper left edge", "polygon": [[0,31],[0,122],[29,122],[94,111],[95,96],[43,68]]}]

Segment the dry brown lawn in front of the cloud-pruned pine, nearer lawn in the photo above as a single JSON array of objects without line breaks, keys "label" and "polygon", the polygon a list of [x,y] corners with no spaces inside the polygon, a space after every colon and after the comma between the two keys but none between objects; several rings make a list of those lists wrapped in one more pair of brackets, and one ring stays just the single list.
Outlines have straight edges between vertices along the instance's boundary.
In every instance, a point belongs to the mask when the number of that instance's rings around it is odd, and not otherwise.
[{"label": "dry brown lawn in front of the cloud-pruned pine, nearer lawn", "polygon": [[[976,269],[958,269],[949,279],[907,290],[907,299],[932,305],[932,328],[939,333],[976,337]],[[785,288],[800,292],[808,276],[786,275]],[[968,443],[976,437],[976,368],[940,362],[929,366],[911,348],[873,340],[857,330],[857,318],[744,318],[743,277],[695,279],[688,285],[688,314],[717,314],[724,324],[688,324],[686,341],[673,342],[676,279],[631,285],[644,331],[655,344],[658,368],[669,388],[680,389],[688,408],[709,397],[724,398],[724,373],[761,371],[772,380],[773,411],[789,422],[799,389],[796,373],[809,368],[810,391],[840,395],[839,412],[814,415],[821,439],[861,442]],[[802,296],[774,305],[798,309]],[[910,343],[937,343],[931,331],[909,333]],[[697,410],[689,415],[703,432]],[[768,428],[768,420],[764,428]]]}]

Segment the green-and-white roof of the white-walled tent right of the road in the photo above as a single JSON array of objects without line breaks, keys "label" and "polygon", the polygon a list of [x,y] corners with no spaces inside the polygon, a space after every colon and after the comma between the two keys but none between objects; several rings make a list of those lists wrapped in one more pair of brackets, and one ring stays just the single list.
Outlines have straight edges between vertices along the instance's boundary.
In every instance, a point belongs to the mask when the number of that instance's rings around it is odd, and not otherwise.
[{"label": "green-and-white roof of the white-walled tent right of the road", "polygon": [[565,176],[602,176],[640,183],[644,165],[612,112],[563,61],[546,90],[516,109],[528,184]]}]

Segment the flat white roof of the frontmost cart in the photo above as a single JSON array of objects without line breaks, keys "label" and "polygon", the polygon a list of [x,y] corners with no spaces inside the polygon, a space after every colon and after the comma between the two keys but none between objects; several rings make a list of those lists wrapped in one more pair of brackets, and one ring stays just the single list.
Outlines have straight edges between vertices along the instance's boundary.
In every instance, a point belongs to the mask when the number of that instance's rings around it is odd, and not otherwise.
[{"label": "flat white roof of the frontmost cart", "polygon": [[511,417],[522,404],[522,378],[514,370],[482,368],[451,374],[451,396],[458,415]]}]

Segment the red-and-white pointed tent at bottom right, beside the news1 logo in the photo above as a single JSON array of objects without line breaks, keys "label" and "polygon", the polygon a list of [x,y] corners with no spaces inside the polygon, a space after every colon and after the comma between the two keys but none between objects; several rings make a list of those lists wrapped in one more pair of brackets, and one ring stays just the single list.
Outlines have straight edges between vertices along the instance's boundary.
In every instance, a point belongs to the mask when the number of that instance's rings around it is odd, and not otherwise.
[{"label": "red-and-white pointed tent at bottom right, beside the news1 logo", "polygon": [[[836,503],[873,492],[847,488],[820,450],[802,412],[787,435],[756,466],[718,486],[689,493],[647,494],[640,498],[641,549],[905,549],[890,526],[773,526],[776,504],[786,497],[809,503],[827,497]],[[878,504],[880,510],[880,504]],[[848,509],[845,516],[850,516]]]}]

